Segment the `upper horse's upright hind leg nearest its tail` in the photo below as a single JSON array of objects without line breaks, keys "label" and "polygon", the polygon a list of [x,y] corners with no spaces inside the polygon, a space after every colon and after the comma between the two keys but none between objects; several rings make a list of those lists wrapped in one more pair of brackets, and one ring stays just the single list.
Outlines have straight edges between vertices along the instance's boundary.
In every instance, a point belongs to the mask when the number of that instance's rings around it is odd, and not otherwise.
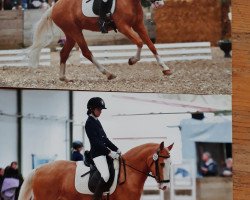
[{"label": "upper horse's upright hind leg nearest its tail", "polygon": [[66,35],[66,42],[60,52],[60,73],[59,79],[65,82],[71,82],[72,80],[66,78],[66,61],[69,58],[70,51],[75,45],[75,41]]}]

